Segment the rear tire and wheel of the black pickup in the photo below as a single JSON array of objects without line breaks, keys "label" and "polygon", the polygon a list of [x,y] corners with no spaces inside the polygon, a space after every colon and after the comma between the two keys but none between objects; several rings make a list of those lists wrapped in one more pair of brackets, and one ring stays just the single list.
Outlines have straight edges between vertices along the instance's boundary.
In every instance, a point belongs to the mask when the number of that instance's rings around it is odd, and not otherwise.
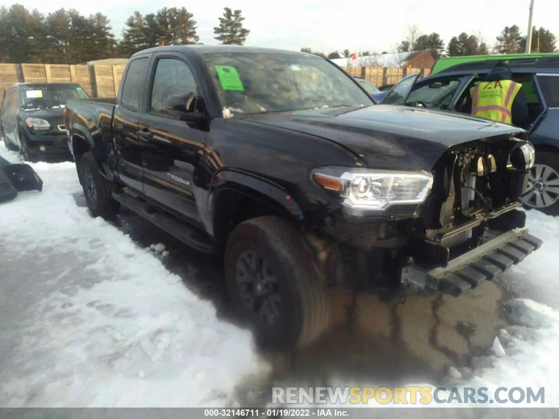
[{"label": "rear tire and wheel of the black pickup", "polygon": [[120,209],[112,193],[115,184],[102,177],[97,160],[91,151],[84,153],[79,164],[83,193],[93,217],[113,218]]}]

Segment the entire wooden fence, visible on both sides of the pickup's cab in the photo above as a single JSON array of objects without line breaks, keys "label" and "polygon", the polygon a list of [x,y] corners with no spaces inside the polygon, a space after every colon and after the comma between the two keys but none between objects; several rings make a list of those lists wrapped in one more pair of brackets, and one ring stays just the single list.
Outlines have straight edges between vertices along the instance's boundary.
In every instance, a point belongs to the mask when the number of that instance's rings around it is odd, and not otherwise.
[{"label": "entire wooden fence, visible on both sides of the pickup's cab", "polygon": [[[124,64],[0,64],[0,100],[4,88],[17,82],[79,83],[92,97],[115,97],[119,91]],[[399,67],[343,67],[354,77],[361,77],[380,87],[395,84],[408,74],[428,74],[429,69]]]}]

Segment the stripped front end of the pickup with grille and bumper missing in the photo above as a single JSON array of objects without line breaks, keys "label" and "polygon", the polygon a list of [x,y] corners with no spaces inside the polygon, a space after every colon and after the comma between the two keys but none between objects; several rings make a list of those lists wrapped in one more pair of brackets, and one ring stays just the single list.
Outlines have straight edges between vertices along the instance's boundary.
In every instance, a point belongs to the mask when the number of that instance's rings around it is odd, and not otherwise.
[{"label": "stripped front end of the pickup with grille and bumper missing", "polygon": [[404,202],[360,220],[344,208],[343,220],[326,220],[311,239],[319,268],[331,284],[390,296],[458,296],[492,280],[542,245],[519,209],[533,164],[532,145],[517,138],[451,147],[435,164],[421,204]]}]

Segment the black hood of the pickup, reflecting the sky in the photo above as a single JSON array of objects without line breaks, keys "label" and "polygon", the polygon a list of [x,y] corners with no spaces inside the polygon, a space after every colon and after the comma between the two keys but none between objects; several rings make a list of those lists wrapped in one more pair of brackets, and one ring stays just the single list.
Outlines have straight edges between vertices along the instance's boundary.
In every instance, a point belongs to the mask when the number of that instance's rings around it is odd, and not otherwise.
[{"label": "black hood of the pickup, reflecting the sky", "polygon": [[259,113],[246,120],[336,142],[377,169],[431,170],[453,145],[525,134],[461,113],[392,105]]}]

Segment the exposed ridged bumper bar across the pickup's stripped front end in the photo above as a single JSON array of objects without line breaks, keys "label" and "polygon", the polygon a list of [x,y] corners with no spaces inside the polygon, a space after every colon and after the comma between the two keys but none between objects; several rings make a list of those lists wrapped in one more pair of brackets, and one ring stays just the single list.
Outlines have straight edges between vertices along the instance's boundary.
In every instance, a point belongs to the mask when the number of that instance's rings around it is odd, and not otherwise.
[{"label": "exposed ridged bumper bar across the pickup's stripped front end", "polygon": [[408,266],[402,270],[402,282],[410,283],[413,289],[426,296],[434,296],[438,291],[458,297],[484,280],[499,277],[510,266],[538,250],[542,243],[528,234],[527,229],[517,228],[449,261],[446,268],[425,271]]}]

